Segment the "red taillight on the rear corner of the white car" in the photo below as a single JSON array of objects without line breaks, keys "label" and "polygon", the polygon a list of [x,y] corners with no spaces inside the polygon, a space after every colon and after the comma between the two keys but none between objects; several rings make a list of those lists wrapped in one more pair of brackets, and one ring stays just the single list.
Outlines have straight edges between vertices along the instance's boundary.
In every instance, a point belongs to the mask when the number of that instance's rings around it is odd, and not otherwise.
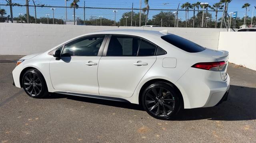
[{"label": "red taillight on the rear corner of the white car", "polygon": [[210,71],[222,71],[226,67],[225,61],[220,62],[209,62],[209,63],[196,63],[192,67],[198,69],[205,69]]}]

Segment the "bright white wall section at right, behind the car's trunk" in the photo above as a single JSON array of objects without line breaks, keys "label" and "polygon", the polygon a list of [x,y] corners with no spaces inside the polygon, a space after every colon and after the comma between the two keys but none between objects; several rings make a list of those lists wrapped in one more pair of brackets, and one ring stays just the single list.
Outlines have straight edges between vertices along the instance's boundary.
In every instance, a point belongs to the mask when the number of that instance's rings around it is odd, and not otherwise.
[{"label": "bright white wall section at right, behind the car's trunk", "polygon": [[229,62],[256,70],[256,32],[220,32],[218,49],[229,52]]}]

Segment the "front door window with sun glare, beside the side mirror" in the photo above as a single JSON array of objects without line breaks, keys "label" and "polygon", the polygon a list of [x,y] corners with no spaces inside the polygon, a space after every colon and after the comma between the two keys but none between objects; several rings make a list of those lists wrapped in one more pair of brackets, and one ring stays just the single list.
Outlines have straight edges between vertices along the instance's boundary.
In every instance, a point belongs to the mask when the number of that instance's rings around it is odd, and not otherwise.
[{"label": "front door window with sun glare, beside the side mirror", "polygon": [[71,41],[64,46],[61,56],[97,56],[104,37],[96,35]]}]

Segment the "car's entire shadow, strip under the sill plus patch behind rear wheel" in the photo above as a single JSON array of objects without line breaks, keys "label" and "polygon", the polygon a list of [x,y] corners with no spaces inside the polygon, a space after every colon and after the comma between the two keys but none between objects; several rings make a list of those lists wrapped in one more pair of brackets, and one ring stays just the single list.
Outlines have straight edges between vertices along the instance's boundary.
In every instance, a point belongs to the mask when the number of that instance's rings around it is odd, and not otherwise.
[{"label": "car's entire shadow, strip under the sill plus patch behind rear wheel", "polygon": [[[137,104],[65,94],[52,93],[50,96],[48,96],[48,98],[67,98],[81,102],[90,102],[118,108],[144,110],[142,106]],[[256,119],[256,88],[230,85],[230,92],[227,101],[214,107],[181,110],[177,117],[172,120],[186,121],[199,119],[223,121]]]}]

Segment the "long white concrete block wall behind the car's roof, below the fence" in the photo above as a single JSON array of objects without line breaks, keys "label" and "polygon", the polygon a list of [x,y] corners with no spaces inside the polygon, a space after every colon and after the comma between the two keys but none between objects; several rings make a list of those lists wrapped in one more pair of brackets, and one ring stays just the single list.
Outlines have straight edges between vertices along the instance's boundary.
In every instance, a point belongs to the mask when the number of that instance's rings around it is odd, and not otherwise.
[{"label": "long white concrete block wall behind the car's roof, below the fence", "polygon": [[214,28],[114,27],[90,25],[0,23],[0,55],[40,53],[78,35],[108,29],[146,29],[182,36],[204,47],[217,49],[220,31]]}]

